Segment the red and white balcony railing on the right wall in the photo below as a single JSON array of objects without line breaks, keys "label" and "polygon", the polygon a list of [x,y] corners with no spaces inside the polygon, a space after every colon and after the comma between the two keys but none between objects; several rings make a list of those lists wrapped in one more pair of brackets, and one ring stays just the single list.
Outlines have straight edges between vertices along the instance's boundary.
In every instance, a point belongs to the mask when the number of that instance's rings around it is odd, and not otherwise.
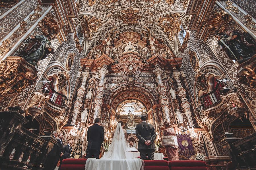
[{"label": "red and white balcony railing on the right wall", "polygon": [[223,88],[223,84],[222,83],[218,83],[216,85],[216,88],[211,91],[210,93],[207,93],[203,96],[201,96],[199,98],[199,100],[202,103],[202,107],[209,107],[211,105],[214,105],[215,103],[217,103],[218,101],[220,101],[221,97],[221,93],[222,93],[222,88]]}]

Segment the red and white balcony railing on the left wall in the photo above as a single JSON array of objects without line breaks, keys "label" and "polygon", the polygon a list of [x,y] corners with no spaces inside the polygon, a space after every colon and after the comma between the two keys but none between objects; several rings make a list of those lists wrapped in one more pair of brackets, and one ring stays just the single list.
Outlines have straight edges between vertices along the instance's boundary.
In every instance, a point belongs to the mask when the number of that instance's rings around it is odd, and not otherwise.
[{"label": "red and white balcony railing on the left wall", "polygon": [[45,84],[42,89],[46,88],[48,86],[49,95],[50,95],[50,101],[58,106],[65,107],[65,101],[67,100],[67,97],[61,93],[58,93],[53,88],[53,80],[48,84]]}]

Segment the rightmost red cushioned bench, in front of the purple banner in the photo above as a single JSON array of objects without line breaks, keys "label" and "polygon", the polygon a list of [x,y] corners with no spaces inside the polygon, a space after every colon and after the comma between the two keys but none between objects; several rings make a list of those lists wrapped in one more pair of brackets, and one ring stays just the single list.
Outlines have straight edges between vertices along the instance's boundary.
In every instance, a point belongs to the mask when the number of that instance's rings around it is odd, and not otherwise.
[{"label": "rightmost red cushioned bench, in front of the purple banner", "polygon": [[170,170],[207,170],[204,161],[169,161]]}]

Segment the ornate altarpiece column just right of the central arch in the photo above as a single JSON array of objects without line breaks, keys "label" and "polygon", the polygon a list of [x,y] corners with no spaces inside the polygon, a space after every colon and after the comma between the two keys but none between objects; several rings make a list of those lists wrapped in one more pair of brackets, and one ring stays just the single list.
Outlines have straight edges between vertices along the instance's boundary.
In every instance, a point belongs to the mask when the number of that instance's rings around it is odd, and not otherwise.
[{"label": "ornate altarpiece column just right of the central arch", "polygon": [[158,86],[157,86],[157,92],[159,94],[159,99],[160,99],[160,104],[162,107],[162,111],[164,113],[164,121],[167,120],[168,122],[170,122],[170,117],[169,117],[169,101],[167,99],[167,95],[166,95],[166,90],[167,87],[162,83],[162,78],[161,78],[161,74],[163,73],[163,70],[156,65],[153,73],[155,73],[155,75],[157,76],[158,79]]}]

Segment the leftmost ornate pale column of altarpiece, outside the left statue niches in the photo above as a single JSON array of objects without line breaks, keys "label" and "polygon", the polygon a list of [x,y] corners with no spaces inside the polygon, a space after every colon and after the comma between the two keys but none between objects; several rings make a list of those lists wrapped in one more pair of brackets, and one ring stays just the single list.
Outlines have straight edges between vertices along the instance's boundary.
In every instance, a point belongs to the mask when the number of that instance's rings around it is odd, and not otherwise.
[{"label": "leftmost ornate pale column of altarpiece, outside the left statue niches", "polygon": [[84,95],[86,94],[85,84],[86,84],[87,79],[90,76],[89,71],[78,73],[78,77],[80,77],[80,76],[83,77],[83,80],[82,80],[81,87],[77,90],[77,100],[75,101],[75,107],[74,107],[74,111],[73,111],[73,118],[71,121],[71,125],[75,125],[77,116],[81,111],[82,104],[83,104],[83,98],[84,98]]}]

